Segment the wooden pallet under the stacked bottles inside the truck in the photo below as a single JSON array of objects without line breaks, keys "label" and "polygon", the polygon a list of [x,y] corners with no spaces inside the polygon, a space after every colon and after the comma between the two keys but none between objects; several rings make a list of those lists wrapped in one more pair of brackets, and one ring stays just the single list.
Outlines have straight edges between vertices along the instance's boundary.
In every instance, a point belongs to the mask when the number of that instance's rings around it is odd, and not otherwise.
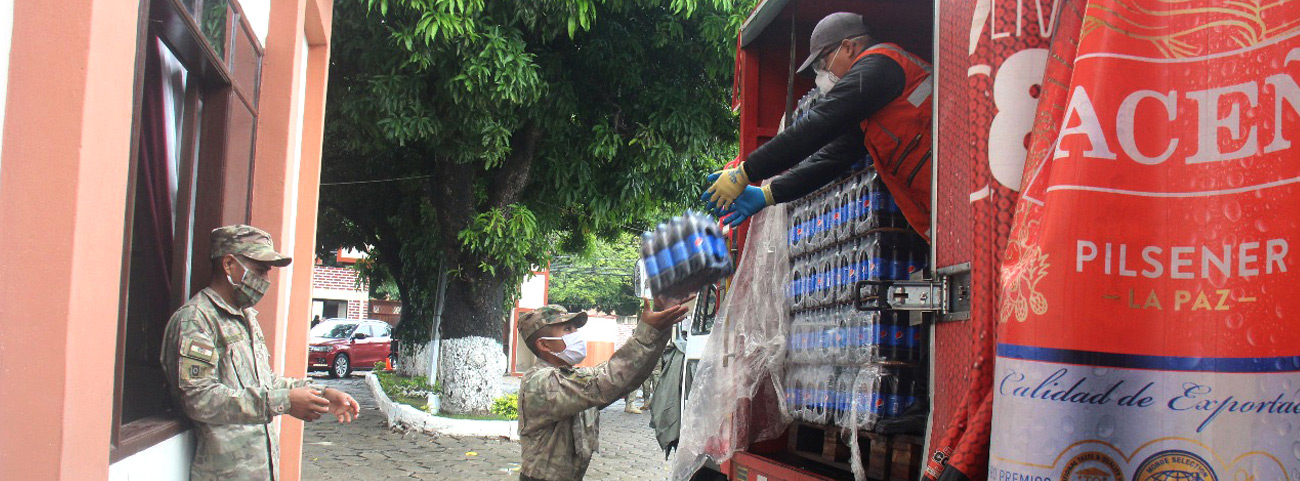
[{"label": "wooden pallet under the stacked bottles inside the truck", "polygon": [[[790,424],[786,448],[802,459],[852,472],[849,432],[840,426],[827,426],[796,421]],[[924,454],[924,439],[919,436],[885,436],[858,432],[862,467],[872,481],[916,481]]]}]

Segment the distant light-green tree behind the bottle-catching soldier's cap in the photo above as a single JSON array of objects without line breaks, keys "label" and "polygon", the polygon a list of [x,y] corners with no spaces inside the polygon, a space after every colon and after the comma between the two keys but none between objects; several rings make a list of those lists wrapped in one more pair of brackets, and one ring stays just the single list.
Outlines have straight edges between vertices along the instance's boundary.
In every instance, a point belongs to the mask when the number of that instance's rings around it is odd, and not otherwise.
[{"label": "distant light-green tree behind the bottle-catching soldier's cap", "polygon": [[551,263],[549,299],[569,312],[597,309],[619,316],[641,311],[632,286],[641,242],[632,234],[597,239],[581,255],[556,256]]}]

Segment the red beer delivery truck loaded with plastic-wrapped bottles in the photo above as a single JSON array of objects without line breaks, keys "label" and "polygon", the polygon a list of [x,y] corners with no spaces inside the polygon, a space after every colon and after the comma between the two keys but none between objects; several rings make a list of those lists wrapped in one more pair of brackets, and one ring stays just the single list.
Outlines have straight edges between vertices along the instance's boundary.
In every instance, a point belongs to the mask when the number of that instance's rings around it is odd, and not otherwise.
[{"label": "red beer delivery truck loaded with plastic-wrapped bottles", "polygon": [[673,477],[1300,480],[1300,5],[766,0],[740,159],[835,12],[932,66],[930,229],[866,159],[733,231]]}]

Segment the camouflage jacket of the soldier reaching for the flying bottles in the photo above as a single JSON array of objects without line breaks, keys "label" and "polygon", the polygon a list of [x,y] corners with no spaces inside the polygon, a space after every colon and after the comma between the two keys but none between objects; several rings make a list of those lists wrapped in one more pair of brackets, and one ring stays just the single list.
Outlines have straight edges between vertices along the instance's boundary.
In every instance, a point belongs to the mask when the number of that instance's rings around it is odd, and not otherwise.
[{"label": "camouflage jacket of the soldier reaching for the flying bottles", "polygon": [[641,324],[604,364],[558,368],[538,363],[529,369],[519,386],[521,477],[581,480],[597,450],[598,410],[623,398],[650,376],[659,364],[668,334]]}]

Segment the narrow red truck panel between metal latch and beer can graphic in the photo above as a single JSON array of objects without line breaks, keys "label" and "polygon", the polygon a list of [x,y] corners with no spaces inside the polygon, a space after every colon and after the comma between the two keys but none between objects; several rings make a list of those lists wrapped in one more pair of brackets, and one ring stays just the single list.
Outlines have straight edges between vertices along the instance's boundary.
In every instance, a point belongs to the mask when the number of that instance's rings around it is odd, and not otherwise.
[{"label": "narrow red truck panel between metal latch and beer can graphic", "polygon": [[940,1],[936,265],[968,263],[972,299],[935,328],[930,478],[987,472],[997,272],[1062,1]]}]

